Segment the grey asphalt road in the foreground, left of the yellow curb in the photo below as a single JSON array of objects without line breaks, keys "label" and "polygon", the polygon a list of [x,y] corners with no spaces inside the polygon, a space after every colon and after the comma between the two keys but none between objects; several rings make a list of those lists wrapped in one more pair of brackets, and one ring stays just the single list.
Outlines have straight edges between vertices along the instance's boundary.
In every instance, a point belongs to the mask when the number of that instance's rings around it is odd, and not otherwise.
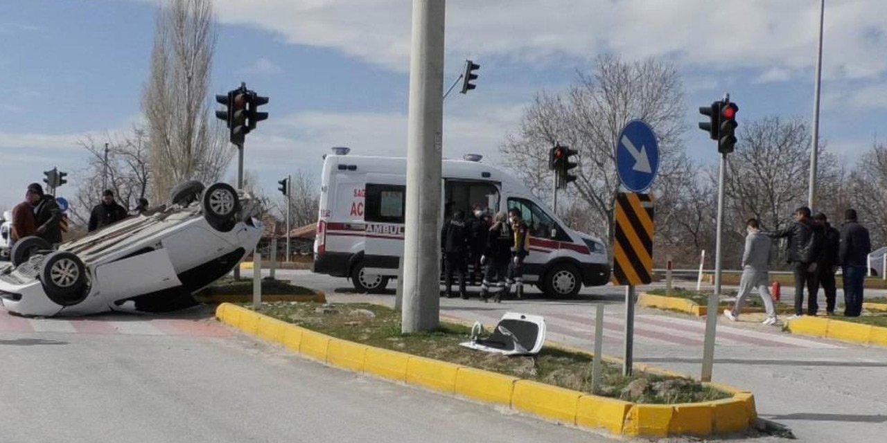
[{"label": "grey asphalt road in the foreground, left of the yellow curb", "polygon": [[171,317],[10,317],[0,309],[0,441],[612,441],[327,368]]}]

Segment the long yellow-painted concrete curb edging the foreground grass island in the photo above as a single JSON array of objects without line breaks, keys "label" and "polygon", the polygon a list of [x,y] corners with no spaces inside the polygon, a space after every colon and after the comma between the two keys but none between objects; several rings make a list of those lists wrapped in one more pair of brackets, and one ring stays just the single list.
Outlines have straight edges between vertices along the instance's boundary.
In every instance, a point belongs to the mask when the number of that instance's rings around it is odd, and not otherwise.
[{"label": "long yellow-painted concrete curb edging the foreground grass island", "polygon": [[675,405],[630,403],[361,345],[284,323],[230,303],[216,308],[216,318],[329,366],[438,392],[455,393],[561,424],[603,429],[616,435],[666,437],[724,434],[745,431],[757,418],[755,398],[751,392],[726,385],[708,384],[733,393],[732,399]]}]

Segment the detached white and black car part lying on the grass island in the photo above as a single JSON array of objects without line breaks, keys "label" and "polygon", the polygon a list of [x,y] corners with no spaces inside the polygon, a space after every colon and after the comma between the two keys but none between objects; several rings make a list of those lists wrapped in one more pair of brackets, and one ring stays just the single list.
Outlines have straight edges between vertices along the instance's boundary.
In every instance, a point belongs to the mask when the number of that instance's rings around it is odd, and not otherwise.
[{"label": "detached white and black car part lying on the grass island", "polygon": [[546,319],[541,315],[506,312],[489,336],[483,324],[471,328],[471,341],[459,343],[477,351],[504,355],[535,355],[546,342]]}]

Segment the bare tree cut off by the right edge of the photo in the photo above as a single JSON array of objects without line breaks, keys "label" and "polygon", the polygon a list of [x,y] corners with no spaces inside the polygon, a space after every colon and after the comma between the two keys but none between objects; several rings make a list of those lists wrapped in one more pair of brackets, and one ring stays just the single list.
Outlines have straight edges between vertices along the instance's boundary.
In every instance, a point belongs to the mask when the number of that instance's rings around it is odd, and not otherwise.
[{"label": "bare tree cut off by the right edge of the photo", "polygon": [[875,142],[850,175],[852,206],[872,237],[872,248],[887,244],[887,144]]}]

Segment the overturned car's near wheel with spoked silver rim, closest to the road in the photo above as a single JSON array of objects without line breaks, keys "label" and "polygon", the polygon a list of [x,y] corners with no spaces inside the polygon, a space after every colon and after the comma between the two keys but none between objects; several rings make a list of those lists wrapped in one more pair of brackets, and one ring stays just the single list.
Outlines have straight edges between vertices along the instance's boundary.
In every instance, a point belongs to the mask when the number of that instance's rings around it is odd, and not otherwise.
[{"label": "overturned car's near wheel with spoked silver rim, closest to the road", "polygon": [[76,305],[86,299],[86,266],[75,253],[59,251],[43,260],[40,269],[43,291],[61,306]]}]

